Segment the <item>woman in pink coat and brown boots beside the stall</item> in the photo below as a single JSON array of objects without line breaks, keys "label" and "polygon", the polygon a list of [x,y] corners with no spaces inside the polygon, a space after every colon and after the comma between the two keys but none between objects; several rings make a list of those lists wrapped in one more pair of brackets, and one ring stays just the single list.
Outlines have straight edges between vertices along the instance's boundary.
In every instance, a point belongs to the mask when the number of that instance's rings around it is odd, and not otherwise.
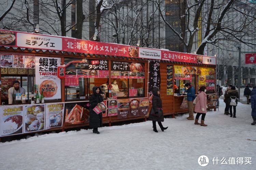
[{"label": "woman in pink coat and brown boots beside the stall", "polygon": [[[207,109],[207,96],[206,96],[206,88],[205,86],[201,86],[199,88],[199,94],[197,96],[197,103],[195,105],[195,112],[197,112],[195,124],[201,124],[201,126],[207,126],[207,124],[204,124],[204,118],[206,115],[206,109]],[[201,123],[198,123],[198,119],[201,117]]]}]

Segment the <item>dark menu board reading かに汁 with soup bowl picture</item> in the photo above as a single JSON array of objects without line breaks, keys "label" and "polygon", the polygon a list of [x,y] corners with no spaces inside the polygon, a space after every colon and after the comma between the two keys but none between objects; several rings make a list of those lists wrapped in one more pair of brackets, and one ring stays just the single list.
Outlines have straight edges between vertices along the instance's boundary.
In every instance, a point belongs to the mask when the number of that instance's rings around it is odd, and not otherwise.
[{"label": "dark menu board reading \u304b\u306b\u6c41 with soup bowl picture", "polygon": [[111,78],[144,79],[144,63],[111,61]]}]

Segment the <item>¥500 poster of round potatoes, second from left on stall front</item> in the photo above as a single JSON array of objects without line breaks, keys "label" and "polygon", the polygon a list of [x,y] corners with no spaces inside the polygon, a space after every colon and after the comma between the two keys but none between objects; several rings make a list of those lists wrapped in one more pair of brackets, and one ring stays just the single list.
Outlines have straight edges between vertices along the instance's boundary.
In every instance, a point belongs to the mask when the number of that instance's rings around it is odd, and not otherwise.
[{"label": "\u00a5500 poster of round potatoes, second from left on stall front", "polygon": [[24,133],[42,131],[45,125],[45,105],[27,105],[24,109]]}]

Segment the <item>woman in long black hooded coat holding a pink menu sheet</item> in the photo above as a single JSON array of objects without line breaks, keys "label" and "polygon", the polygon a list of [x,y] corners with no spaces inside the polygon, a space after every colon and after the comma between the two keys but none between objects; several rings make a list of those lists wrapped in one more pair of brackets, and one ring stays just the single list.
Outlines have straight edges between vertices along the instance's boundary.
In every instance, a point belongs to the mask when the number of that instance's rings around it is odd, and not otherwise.
[{"label": "woman in long black hooded coat holding a pink menu sheet", "polygon": [[102,127],[102,113],[95,113],[93,108],[97,106],[100,102],[103,102],[103,93],[101,92],[100,87],[93,87],[93,94],[90,96],[89,110],[90,110],[90,129],[93,128],[93,133],[100,134],[98,131],[99,127]]}]

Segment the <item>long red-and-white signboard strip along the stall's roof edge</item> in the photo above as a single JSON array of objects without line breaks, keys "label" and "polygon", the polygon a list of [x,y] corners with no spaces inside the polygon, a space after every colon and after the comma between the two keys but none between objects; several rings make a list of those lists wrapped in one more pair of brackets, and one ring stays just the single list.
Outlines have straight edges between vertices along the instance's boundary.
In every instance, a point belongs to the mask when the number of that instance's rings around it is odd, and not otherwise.
[{"label": "long red-and-white signboard strip along the stall's roof edge", "polygon": [[0,29],[0,46],[216,65],[215,57]]}]

